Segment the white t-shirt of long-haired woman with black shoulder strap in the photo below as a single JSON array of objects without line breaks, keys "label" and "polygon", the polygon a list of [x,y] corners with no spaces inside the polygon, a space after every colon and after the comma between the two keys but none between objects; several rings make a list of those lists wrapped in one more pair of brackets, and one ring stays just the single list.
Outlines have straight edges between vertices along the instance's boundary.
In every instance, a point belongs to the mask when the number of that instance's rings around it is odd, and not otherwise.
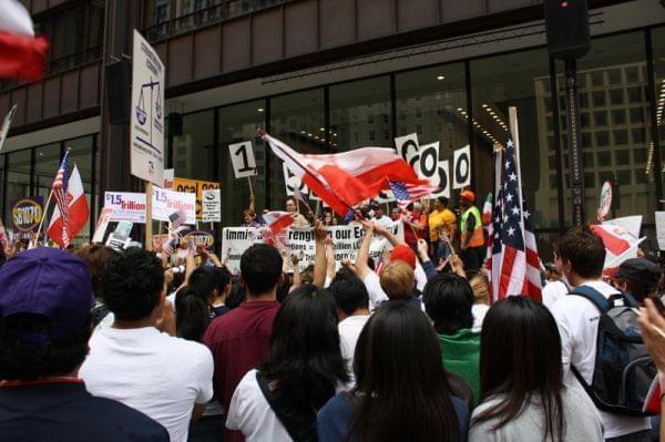
[{"label": "white t-shirt of long-haired woman with black shoulder strap", "polygon": [[256,370],[249,370],[233,392],[226,428],[239,430],[247,442],[293,441],[260,391]]}]

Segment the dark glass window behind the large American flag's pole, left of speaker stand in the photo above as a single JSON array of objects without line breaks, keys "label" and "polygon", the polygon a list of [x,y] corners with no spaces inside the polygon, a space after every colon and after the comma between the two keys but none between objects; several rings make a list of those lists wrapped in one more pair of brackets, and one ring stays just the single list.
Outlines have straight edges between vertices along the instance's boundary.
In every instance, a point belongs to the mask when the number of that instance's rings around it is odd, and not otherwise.
[{"label": "dark glass window behind the large American flag's pole, left of speaker stand", "polygon": [[[545,49],[484,58],[471,62],[473,92],[473,173],[475,194],[493,192],[493,145],[505,144],[509,107],[515,106],[520,129],[520,163],[524,197],[534,227],[559,228],[559,195],[552,183],[556,168],[546,161],[548,138],[554,135],[550,68]],[[525,165],[538,165],[529,167]],[[478,204],[481,204],[479,201]]]}]

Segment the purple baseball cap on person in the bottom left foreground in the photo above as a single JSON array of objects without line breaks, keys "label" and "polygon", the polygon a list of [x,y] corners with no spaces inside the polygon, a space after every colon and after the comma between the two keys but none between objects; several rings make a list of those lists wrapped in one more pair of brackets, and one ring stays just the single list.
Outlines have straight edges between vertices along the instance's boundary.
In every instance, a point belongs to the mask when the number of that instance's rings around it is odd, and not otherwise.
[{"label": "purple baseball cap on person in the bottom left foreground", "polygon": [[[90,270],[81,258],[57,248],[18,254],[0,268],[0,335],[45,345],[68,339],[90,321],[94,304]],[[12,315],[49,319],[43,332],[8,329]]]}]

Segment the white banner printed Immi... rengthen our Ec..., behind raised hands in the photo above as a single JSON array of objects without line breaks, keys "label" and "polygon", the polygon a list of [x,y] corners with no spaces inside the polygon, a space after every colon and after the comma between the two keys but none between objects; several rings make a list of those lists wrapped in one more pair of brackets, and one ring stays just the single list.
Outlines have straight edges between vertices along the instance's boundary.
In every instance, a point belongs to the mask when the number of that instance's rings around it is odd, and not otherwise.
[{"label": "white banner printed Immi... rengthen our Ec..., behind raised hands", "polygon": [[[330,226],[327,227],[328,235],[332,239],[335,249],[335,260],[340,263],[342,259],[356,260],[365,229],[361,225],[351,226]],[[396,222],[388,226],[399,239],[403,240],[405,225],[402,222]],[[260,228],[254,227],[226,227],[222,230],[222,259],[228,256],[227,266],[233,271],[238,271],[241,268],[241,256],[253,244],[264,243],[260,235]],[[314,264],[316,241],[314,239],[314,228],[288,228],[285,234],[284,247],[288,255],[300,256],[299,266],[301,268]],[[375,235],[369,246],[369,256],[378,258],[383,249],[392,249],[392,246],[386,238]]]}]

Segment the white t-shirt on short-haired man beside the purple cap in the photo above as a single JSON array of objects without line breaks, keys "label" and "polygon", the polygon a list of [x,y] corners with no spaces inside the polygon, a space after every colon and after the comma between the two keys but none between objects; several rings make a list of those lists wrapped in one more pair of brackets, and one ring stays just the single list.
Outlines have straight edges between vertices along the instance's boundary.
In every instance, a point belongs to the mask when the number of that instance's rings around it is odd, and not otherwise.
[{"label": "white t-shirt on short-haired man beside the purple cap", "polygon": [[192,409],[213,397],[213,356],[207,347],[154,327],[105,328],[93,333],[80,377],[93,395],[132,407],[186,442]]}]

